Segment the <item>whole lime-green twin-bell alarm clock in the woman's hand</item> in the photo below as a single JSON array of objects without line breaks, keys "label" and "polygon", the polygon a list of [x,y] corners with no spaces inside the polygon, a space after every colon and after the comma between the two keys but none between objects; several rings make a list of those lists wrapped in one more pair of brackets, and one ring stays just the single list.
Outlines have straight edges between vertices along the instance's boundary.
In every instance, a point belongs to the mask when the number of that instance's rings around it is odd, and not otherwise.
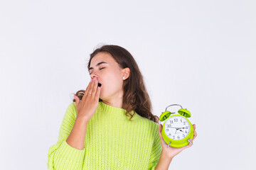
[{"label": "whole lime-green twin-bell alarm clock in the woman's hand", "polygon": [[[181,105],[173,104],[170,106]],[[181,106],[181,109],[178,110],[178,114],[175,114],[175,112],[167,111],[167,108],[170,106],[166,107],[166,111],[162,112],[159,118],[160,121],[164,121],[161,135],[166,144],[168,144],[167,147],[185,147],[188,143],[192,144],[189,139],[193,139],[194,129],[193,125],[188,120],[188,118],[191,117],[191,113]]]}]

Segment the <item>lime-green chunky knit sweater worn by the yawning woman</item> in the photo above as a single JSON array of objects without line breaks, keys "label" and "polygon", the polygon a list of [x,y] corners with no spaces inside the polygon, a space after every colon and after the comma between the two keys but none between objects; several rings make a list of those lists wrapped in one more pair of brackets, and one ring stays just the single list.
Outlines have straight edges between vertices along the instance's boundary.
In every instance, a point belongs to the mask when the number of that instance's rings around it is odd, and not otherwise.
[{"label": "lime-green chunky knit sweater worn by the yawning woman", "polygon": [[[155,169],[161,155],[159,125],[135,113],[99,102],[87,124],[84,149],[66,142],[78,112],[71,103],[60,125],[58,142],[48,150],[48,169]],[[134,113],[134,112],[132,112]]]}]

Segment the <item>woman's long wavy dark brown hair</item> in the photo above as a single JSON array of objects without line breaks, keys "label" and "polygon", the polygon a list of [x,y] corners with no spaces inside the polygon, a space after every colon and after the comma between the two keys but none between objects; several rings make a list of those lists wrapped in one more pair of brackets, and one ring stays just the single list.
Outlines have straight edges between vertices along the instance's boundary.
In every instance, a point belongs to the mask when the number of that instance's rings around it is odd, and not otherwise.
[{"label": "woman's long wavy dark brown hair", "polygon": [[[103,45],[102,47],[98,47],[94,52],[92,52],[92,54],[90,54],[90,60],[87,64],[88,71],[92,57],[97,55],[98,52],[108,52],[119,64],[119,67],[122,67],[122,69],[129,67],[130,69],[129,77],[124,80],[123,84],[123,104],[125,106],[124,108],[127,110],[125,115],[131,115],[129,120],[134,116],[134,114],[131,114],[131,111],[135,111],[142,117],[153,120],[159,125],[159,117],[151,113],[151,100],[148,92],[146,91],[142,73],[130,52],[124,49],[124,47],[120,47],[118,45]],[[78,98],[82,100],[82,96],[84,94],[85,90],[80,90],[76,92],[75,96],[78,96]],[[99,102],[100,101],[102,101],[102,99],[99,98]],[[73,99],[73,102],[75,102],[75,99]]]}]

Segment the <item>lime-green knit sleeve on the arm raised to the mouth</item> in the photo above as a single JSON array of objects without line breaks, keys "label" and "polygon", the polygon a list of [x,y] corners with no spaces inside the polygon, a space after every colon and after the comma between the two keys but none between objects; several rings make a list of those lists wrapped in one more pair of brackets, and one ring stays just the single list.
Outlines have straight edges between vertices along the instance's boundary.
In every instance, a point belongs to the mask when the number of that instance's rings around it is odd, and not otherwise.
[{"label": "lime-green knit sleeve on the arm raised to the mouth", "polygon": [[63,122],[60,125],[58,142],[55,145],[52,145],[48,150],[48,169],[82,169],[85,148],[82,150],[76,149],[75,147],[68,145],[66,142],[71,130],[73,129],[77,114],[75,102],[73,102],[68,106]]}]

